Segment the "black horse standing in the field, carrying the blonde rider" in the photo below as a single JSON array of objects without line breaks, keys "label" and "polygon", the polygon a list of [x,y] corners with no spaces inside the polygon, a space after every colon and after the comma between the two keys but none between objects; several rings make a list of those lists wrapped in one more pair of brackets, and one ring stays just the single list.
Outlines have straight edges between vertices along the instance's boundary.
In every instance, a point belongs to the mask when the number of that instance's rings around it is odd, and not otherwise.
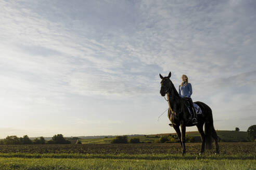
[{"label": "black horse standing in the field, carrying the blonde rider", "polygon": [[[161,74],[159,74],[159,76],[162,79],[160,94],[162,96],[165,96],[165,94],[167,94],[167,101],[169,104],[168,118],[172,122],[173,127],[178,135],[178,138],[180,139],[181,146],[183,149],[182,154],[185,154],[186,126],[193,126],[191,121],[189,121],[190,114],[186,106],[185,99],[180,97],[172,81],[170,80],[171,72],[167,77],[163,77]],[[217,154],[219,153],[219,145],[217,142],[219,137],[217,136],[217,133],[213,127],[212,110],[208,105],[202,102],[194,102],[194,103],[196,103],[202,110],[202,114],[197,115],[198,123],[196,124],[202,139],[200,154],[204,153],[205,143],[206,143],[207,149],[212,148],[212,138],[215,141],[216,154]],[[203,132],[203,124],[205,124],[204,125],[205,134]],[[181,126],[181,131],[179,126]]]}]

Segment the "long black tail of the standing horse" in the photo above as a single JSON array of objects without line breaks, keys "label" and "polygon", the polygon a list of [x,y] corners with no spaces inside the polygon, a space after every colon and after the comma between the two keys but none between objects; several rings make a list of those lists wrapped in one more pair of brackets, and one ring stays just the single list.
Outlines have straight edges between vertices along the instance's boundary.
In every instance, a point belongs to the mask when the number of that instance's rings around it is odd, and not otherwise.
[{"label": "long black tail of the standing horse", "polygon": [[206,123],[204,124],[204,133],[206,133],[206,149],[212,149],[213,138],[216,140],[217,133],[213,126],[212,110],[206,105]]}]

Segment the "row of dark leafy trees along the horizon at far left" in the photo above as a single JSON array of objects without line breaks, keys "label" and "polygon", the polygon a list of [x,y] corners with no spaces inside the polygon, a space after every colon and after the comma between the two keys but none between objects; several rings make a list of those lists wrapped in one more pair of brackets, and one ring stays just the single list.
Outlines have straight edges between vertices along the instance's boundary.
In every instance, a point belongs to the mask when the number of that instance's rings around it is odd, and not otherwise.
[{"label": "row of dark leafy trees along the horizon at far left", "polygon": [[52,137],[52,139],[46,141],[43,136],[40,138],[35,138],[31,140],[28,135],[23,137],[7,136],[4,139],[0,140],[0,145],[44,145],[44,144],[71,144],[70,140],[67,140],[63,137],[62,134],[57,134]]}]

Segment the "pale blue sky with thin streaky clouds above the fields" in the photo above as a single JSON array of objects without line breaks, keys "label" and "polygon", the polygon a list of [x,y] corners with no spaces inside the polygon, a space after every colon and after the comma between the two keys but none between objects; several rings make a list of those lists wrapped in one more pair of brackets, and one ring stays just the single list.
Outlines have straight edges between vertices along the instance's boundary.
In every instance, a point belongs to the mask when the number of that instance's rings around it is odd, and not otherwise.
[{"label": "pale blue sky with thin streaky clouds above the fields", "polygon": [[[256,116],[255,1],[0,0],[0,138],[174,133],[159,73],[216,130]],[[195,131],[188,127],[187,131]]]}]

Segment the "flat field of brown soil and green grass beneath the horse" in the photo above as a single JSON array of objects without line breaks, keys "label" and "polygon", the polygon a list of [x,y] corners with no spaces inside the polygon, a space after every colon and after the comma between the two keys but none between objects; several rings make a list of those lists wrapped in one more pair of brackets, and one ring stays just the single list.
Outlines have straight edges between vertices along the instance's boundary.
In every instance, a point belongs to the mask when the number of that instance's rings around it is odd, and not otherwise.
[{"label": "flat field of brown soil and green grass beneath the horse", "polygon": [[0,169],[256,169],[256,143],[220,143],[199,157],[200,143],[1,145]]}]

